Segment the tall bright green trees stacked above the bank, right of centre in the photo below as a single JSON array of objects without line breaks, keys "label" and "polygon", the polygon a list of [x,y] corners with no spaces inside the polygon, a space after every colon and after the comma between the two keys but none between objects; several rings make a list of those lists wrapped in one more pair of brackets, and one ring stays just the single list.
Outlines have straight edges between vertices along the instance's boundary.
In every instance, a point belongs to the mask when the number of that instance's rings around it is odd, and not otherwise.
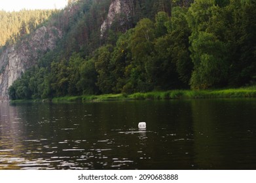
[{"label": "tall bright green trees stacked above the bank, right of centre", "polygon": [[[187,20],[192,29],[191,58],[194,71],[191,77],[191,88],[206,89],[223,86],[227,82],[227,44],[221,41],[218,34],[208,29],[217,20],[220,7],[215,1],[198,0],[189,8]],[[220,17],[219,17],[220,18]],[[219,19],[219,21],[223,21]],[[219,24],[217,24],[219,25]],[[217,25],[215,25],[217,27]],[[223,27],[220,27],[223,28]],[[219,27],[217,27],[219,29]]]}]

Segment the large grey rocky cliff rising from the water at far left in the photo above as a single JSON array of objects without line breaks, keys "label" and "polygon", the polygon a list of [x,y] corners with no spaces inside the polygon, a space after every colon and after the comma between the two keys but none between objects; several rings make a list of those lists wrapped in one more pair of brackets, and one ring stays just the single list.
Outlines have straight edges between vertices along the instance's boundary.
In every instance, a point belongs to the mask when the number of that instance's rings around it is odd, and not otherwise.
[{"label": "large grey rocky cliff rising from the water at far left", "polygon": [[62,32],[56,27],[40,27],[22,42],[7,47],[0,54],[0,101],[9,101],[8,88],[26,69],[56,47]]}]

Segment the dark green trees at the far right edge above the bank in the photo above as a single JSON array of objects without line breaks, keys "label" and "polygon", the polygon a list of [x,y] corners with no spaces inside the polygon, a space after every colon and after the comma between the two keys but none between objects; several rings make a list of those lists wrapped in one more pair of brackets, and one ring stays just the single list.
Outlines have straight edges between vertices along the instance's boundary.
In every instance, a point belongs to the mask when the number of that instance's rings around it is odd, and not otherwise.
[{"label": "dark green trees at the far right edge above the bank", "polygon": [[255,1],[231,1],[232,24],[230,25],[230,79],[231,86],[256,82],[256,22]]}]

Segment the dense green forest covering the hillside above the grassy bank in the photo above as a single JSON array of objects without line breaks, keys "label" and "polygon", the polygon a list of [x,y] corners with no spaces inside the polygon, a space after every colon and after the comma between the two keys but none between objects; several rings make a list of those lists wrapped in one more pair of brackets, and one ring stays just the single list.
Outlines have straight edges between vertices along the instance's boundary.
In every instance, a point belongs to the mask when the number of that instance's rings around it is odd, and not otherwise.
[{"label": "dense green forest covering the hillside above the grassy bank", "polygon": [[[47,24],[64,31],[9,88],[11,99],[229,88],[256,82],[256,1],[129,1],[101,37],[110,0],[70,3]],[[125,21],[124,21],[125,20]]]}]

